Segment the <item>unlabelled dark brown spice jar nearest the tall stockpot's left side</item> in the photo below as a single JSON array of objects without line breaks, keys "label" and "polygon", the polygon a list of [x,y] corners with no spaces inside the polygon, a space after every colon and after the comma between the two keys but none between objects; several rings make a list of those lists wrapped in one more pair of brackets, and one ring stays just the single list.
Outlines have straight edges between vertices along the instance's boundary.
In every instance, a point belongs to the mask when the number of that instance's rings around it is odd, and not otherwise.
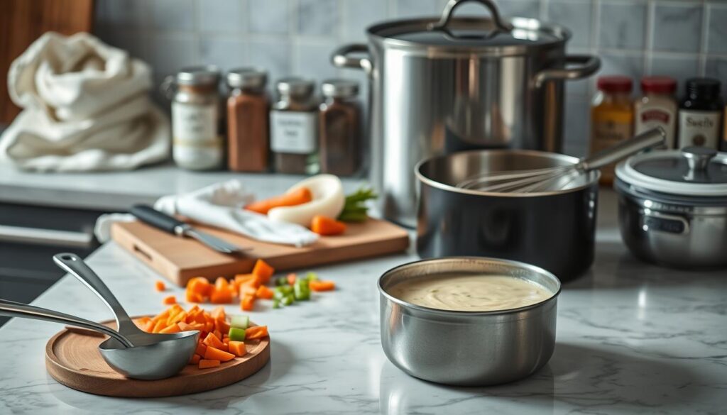
[{"label": "unlabelled dark brown spice jar nearest the tall stockpot's left side", "polygon": [[329,79],[321,84],[321,173],[350,176],[361,166],[361,108],[358,82]]}]

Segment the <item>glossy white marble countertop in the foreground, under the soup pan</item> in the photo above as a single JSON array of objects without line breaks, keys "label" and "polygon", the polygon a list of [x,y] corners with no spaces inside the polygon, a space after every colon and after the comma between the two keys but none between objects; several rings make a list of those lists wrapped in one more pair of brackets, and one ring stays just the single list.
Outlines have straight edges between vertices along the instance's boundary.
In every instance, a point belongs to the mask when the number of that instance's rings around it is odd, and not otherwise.
[{"label": "glossy white marble countertop in the foreground, under the soup pan", "polygon": [[[60,327],[14,319],[0,329],[0,413],[723,414],[727,273],[639,262],[622,246],[614,206],[613,194],[603,192],[595,263],[563,287],[550,363],[521,382],[446,387],[411,378],[385,358],[376,281],[416,259],[409,253],[316,269],[336,281],[337,291],[252,313],[270,326],[270,363],[249,379],[196,395],[131,400],[68,389],[44,368],[44,346]],[[168,293],[153,290],[158,275],[119,246],[103,246],[89,263],[130,313],[161,310]],[[182,290],[174,294],[182,297]],[[33,303],[111,317],[68,276]]]}]

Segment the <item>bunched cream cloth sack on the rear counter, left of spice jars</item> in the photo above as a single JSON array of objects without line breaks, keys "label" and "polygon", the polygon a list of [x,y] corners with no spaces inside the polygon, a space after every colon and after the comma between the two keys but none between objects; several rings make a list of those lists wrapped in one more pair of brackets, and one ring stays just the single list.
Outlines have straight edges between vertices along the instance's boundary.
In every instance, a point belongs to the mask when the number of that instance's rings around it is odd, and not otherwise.
[{"label": "bunched cream cloth sack on the rear counter, left of spice jars", "polygon": [[45,33],[8,72],[23,108],[0,157],[41,172],[135,169],[169,156],[169,120],[150,101],[149,66],[89,33]]}]

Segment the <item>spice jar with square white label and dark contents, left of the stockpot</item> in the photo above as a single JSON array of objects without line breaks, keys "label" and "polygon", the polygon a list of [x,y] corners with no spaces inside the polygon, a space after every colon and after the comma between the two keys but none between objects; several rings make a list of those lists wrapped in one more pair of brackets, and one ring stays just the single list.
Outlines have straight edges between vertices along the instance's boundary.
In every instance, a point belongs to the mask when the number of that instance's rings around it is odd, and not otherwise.
[{"label": "spice jar with square white label and dark contents, left of the stockpot", "polygon": [[270,150],[277,172],[318,172],[318,102],[313,81],[284,78],[276,89],[278,102],[270,110]]}]

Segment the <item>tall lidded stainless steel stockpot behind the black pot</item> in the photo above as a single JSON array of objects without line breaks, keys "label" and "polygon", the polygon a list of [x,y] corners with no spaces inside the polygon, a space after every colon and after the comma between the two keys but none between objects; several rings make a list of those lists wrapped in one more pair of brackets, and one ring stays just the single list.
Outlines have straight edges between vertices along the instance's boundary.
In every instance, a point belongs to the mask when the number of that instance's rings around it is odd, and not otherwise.
[{"label": "tall lidded stainless steel stockpot behind the black pot", "polygon": [[[452,17],[465,1],[491,16]],[[441,17],[379,23],[366,35],[368,45],[345,45],[332,62],[369,73],[371,180],[385,217],[409,227],[417,162],[473,148],[560,152],[563,80],[600,66],[597,57],[566,55],[566,28],[503,19],[491,0],[450,0]]]}]

